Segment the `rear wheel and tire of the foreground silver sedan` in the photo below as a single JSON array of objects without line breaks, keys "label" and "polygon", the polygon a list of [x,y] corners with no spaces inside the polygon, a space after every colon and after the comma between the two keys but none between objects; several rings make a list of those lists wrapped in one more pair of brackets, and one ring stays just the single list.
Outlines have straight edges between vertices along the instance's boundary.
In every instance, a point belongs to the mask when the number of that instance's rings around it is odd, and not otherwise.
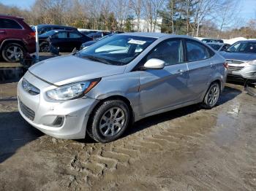
[{"label": "rear wheel and tire of the foreground silver sedan", "polygon": [[217,101],[219,100],[219,95],[220,95],[220,87],[218,82],[213,82],[211,83],[210,87],[208,88],[205,98],[203,99],[203,103],[201,106],[205,109],[211,109],[213,108],[216,104]]}]

